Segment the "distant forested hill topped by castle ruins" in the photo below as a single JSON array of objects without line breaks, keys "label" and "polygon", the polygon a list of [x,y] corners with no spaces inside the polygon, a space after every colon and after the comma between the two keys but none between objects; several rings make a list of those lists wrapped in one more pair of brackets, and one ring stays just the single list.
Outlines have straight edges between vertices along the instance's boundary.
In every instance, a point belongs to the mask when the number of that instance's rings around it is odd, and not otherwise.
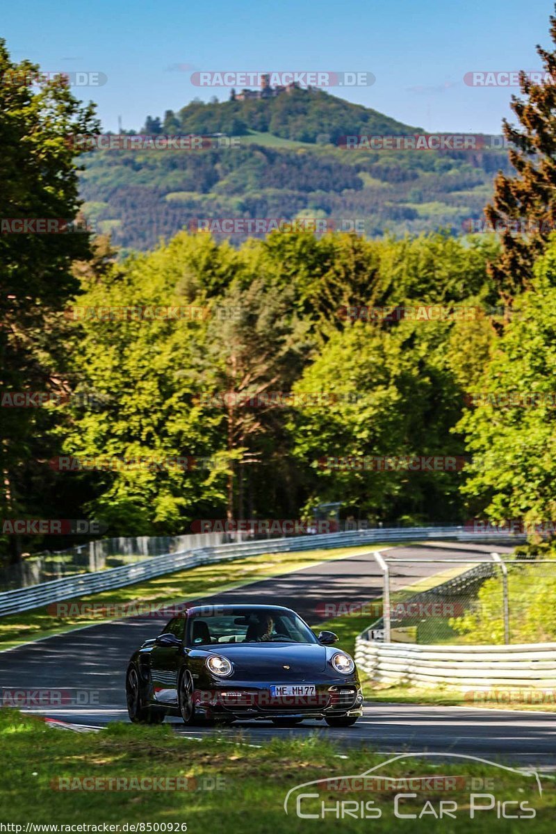
[{"label": "distant forested hill topped by castle ruins", "polygon": [[[420,128],[315,90],[268,100],[192,102],[149,132],[225,133],[236,148],[105,150],[84,157],[84,213],[114,243],[149,249],[199,219],[327,218],[370,237],[448,228],[480,218],[494,173],[493,149],[349,150],[345,135],[403,135]],[[230,235],[233,242],[241,234]]]}]

